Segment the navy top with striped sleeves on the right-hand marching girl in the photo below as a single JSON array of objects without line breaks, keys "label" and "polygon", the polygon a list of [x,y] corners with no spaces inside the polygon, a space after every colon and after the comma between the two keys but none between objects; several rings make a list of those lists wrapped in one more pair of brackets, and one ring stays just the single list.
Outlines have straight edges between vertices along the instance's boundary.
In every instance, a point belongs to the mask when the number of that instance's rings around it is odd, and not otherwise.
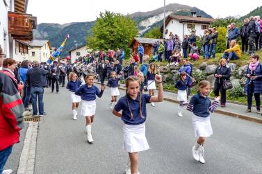
[{"label": "navy top with striped sleeves on the right-hand marching girl", "polygon": [[190,103],[186,109],[192,111],[196,116],[208,117],[209,112],[214,112],[216,107],[218,107],[218,101],[214,101],[214,103],[211,104],[207,96],[204,97],[197,92],[197,94],[190,99]]}]

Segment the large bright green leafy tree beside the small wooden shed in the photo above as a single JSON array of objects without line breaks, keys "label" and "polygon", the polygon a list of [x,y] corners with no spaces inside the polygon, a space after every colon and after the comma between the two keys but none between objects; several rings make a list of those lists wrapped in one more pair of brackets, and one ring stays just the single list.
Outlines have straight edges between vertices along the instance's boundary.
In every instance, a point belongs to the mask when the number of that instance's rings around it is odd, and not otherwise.
[{"label": "large bright green leafy tree beside the small wooden shed", "polygon": [[129,44],[137,34],[136,23],[130,17],[115,12],[100,12],[87,43],[90,49],[107,51],[119,48],[129,55]]}]

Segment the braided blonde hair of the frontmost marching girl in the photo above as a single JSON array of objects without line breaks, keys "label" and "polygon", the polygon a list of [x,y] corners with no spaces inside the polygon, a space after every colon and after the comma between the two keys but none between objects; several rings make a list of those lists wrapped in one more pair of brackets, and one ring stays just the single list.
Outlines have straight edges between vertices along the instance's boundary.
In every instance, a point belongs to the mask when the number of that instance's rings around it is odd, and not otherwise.
[{"label": "braided blonde hair of the frontmost marching girl", "polygon": [[[129,87],[129,83],[130,82],[138,82],[138,84],[140,84],[138,78],[136,76],[129,76],[128,78],[126,78],[126,102],[127,105],[129,106],[129,112],[131,114],[131,120],[133,120],[133,113],[131,112],[131,108],[130,108],[130,104],[129,104],[129,93],[128,93],[128,87]],[[139,97],[139,113],[140,116],[142,117],[142,119],[145,119],[145,117],[142,115],[142,94],[140,92],[138,92],[138,97]]]}]

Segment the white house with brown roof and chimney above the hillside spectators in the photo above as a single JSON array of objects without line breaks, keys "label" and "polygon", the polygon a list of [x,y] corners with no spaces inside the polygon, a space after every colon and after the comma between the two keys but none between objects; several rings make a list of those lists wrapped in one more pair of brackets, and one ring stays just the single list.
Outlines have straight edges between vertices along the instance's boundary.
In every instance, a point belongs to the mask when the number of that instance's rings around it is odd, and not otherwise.
[{"label": "white house with brown roof and chimney above the hillside spectators", "polygon": [[[213,18],[205,18],[196,16],[195,12],[192,12],[193,16],[179,16],[179,15],[168,15],[165,19],[165,39],[170,37],[172,34],[177,34],[181,40],[184,35],[190,35],[190,31],[194,29],[196,35],[203,35],[204,30],[209,28],[209,25],[215,21]],[[163,26],[161,27],[163,32]]]}]

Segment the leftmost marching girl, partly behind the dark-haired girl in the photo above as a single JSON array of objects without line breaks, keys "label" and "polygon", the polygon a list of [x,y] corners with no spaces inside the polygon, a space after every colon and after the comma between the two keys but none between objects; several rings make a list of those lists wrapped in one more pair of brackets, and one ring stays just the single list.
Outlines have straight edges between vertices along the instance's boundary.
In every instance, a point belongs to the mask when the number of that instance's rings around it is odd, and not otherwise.
[{"label": "leftmost marching girl, partly behind the dark-haired girl", "polygon": [[79,107],[79,102],[81,102],[81,97],[76,96],[74,92],[81,86],[81,80],[77,80],[76,73],[69,73],[69,82],[67,83],[67,89],[69,89],[71,101],[72,101],[72,111],[73,111],[73,119],[76,120],[77,108]]}]

